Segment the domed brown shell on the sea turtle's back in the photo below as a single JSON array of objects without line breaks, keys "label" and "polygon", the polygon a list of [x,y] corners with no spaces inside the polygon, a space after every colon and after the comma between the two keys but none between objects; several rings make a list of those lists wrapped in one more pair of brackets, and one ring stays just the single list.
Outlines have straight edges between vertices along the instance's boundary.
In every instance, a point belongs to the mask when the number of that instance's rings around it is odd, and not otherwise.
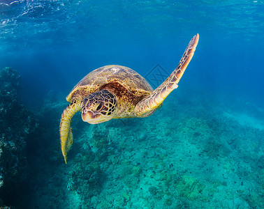
[{"label": "domed brown shell on the sea turtle's back", "polygon": [[89,93],[106,87],[115,89],[117,95],[124,91],[124,88],[131,94],[137,95],[149,95],[153,91],[152,86],[131,68],[121,65],[106,65],[89,72],[73,88],[66,100],[71,102],[75,98],[85,98]]}]

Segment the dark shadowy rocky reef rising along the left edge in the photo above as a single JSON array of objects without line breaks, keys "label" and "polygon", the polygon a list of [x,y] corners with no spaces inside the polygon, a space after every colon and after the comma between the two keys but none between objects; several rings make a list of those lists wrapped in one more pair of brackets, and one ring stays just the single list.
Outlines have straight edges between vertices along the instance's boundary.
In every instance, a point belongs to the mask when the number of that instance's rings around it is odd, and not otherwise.
[{"label": "dark shadowy rocky reef rising along the left edge", "polygon": [[[27,139],[38,123],[18,100],[20,75],[11,68],[0,70],[0,208],[14,202],[11,195],[26,180]],[[9,202],[9,203],[8,203]]]}]

